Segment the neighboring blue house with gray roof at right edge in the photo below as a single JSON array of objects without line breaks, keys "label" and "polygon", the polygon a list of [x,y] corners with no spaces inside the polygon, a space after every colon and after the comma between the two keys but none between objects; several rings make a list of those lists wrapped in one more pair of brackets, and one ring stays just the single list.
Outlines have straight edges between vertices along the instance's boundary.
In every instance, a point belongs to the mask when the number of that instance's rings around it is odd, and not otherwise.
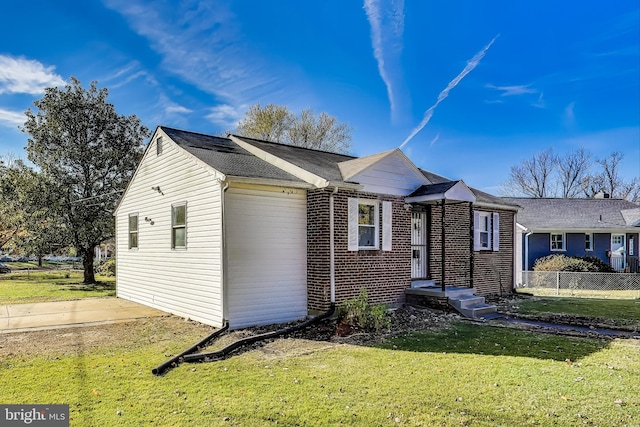
[{"label": "neighboring blue house with gray roof at right edge", "polygon": [[522,207],[524,270],[550,254],[593,256],[616,271],[637,265],[640,206],[626,200],[505,198]]}]

